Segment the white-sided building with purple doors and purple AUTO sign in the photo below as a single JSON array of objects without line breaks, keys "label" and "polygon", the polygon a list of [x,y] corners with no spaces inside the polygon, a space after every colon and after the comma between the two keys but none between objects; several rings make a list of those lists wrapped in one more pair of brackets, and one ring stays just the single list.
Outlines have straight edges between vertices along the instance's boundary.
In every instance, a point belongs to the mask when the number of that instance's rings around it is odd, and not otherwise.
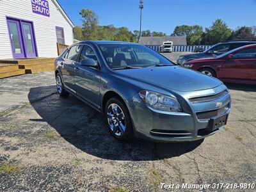
[{"label": "white-sided building with purple doors and purple AUTO sign", "polygon": [[56,0],[0,0],[0,59],[56,57],[73,28]]}]

